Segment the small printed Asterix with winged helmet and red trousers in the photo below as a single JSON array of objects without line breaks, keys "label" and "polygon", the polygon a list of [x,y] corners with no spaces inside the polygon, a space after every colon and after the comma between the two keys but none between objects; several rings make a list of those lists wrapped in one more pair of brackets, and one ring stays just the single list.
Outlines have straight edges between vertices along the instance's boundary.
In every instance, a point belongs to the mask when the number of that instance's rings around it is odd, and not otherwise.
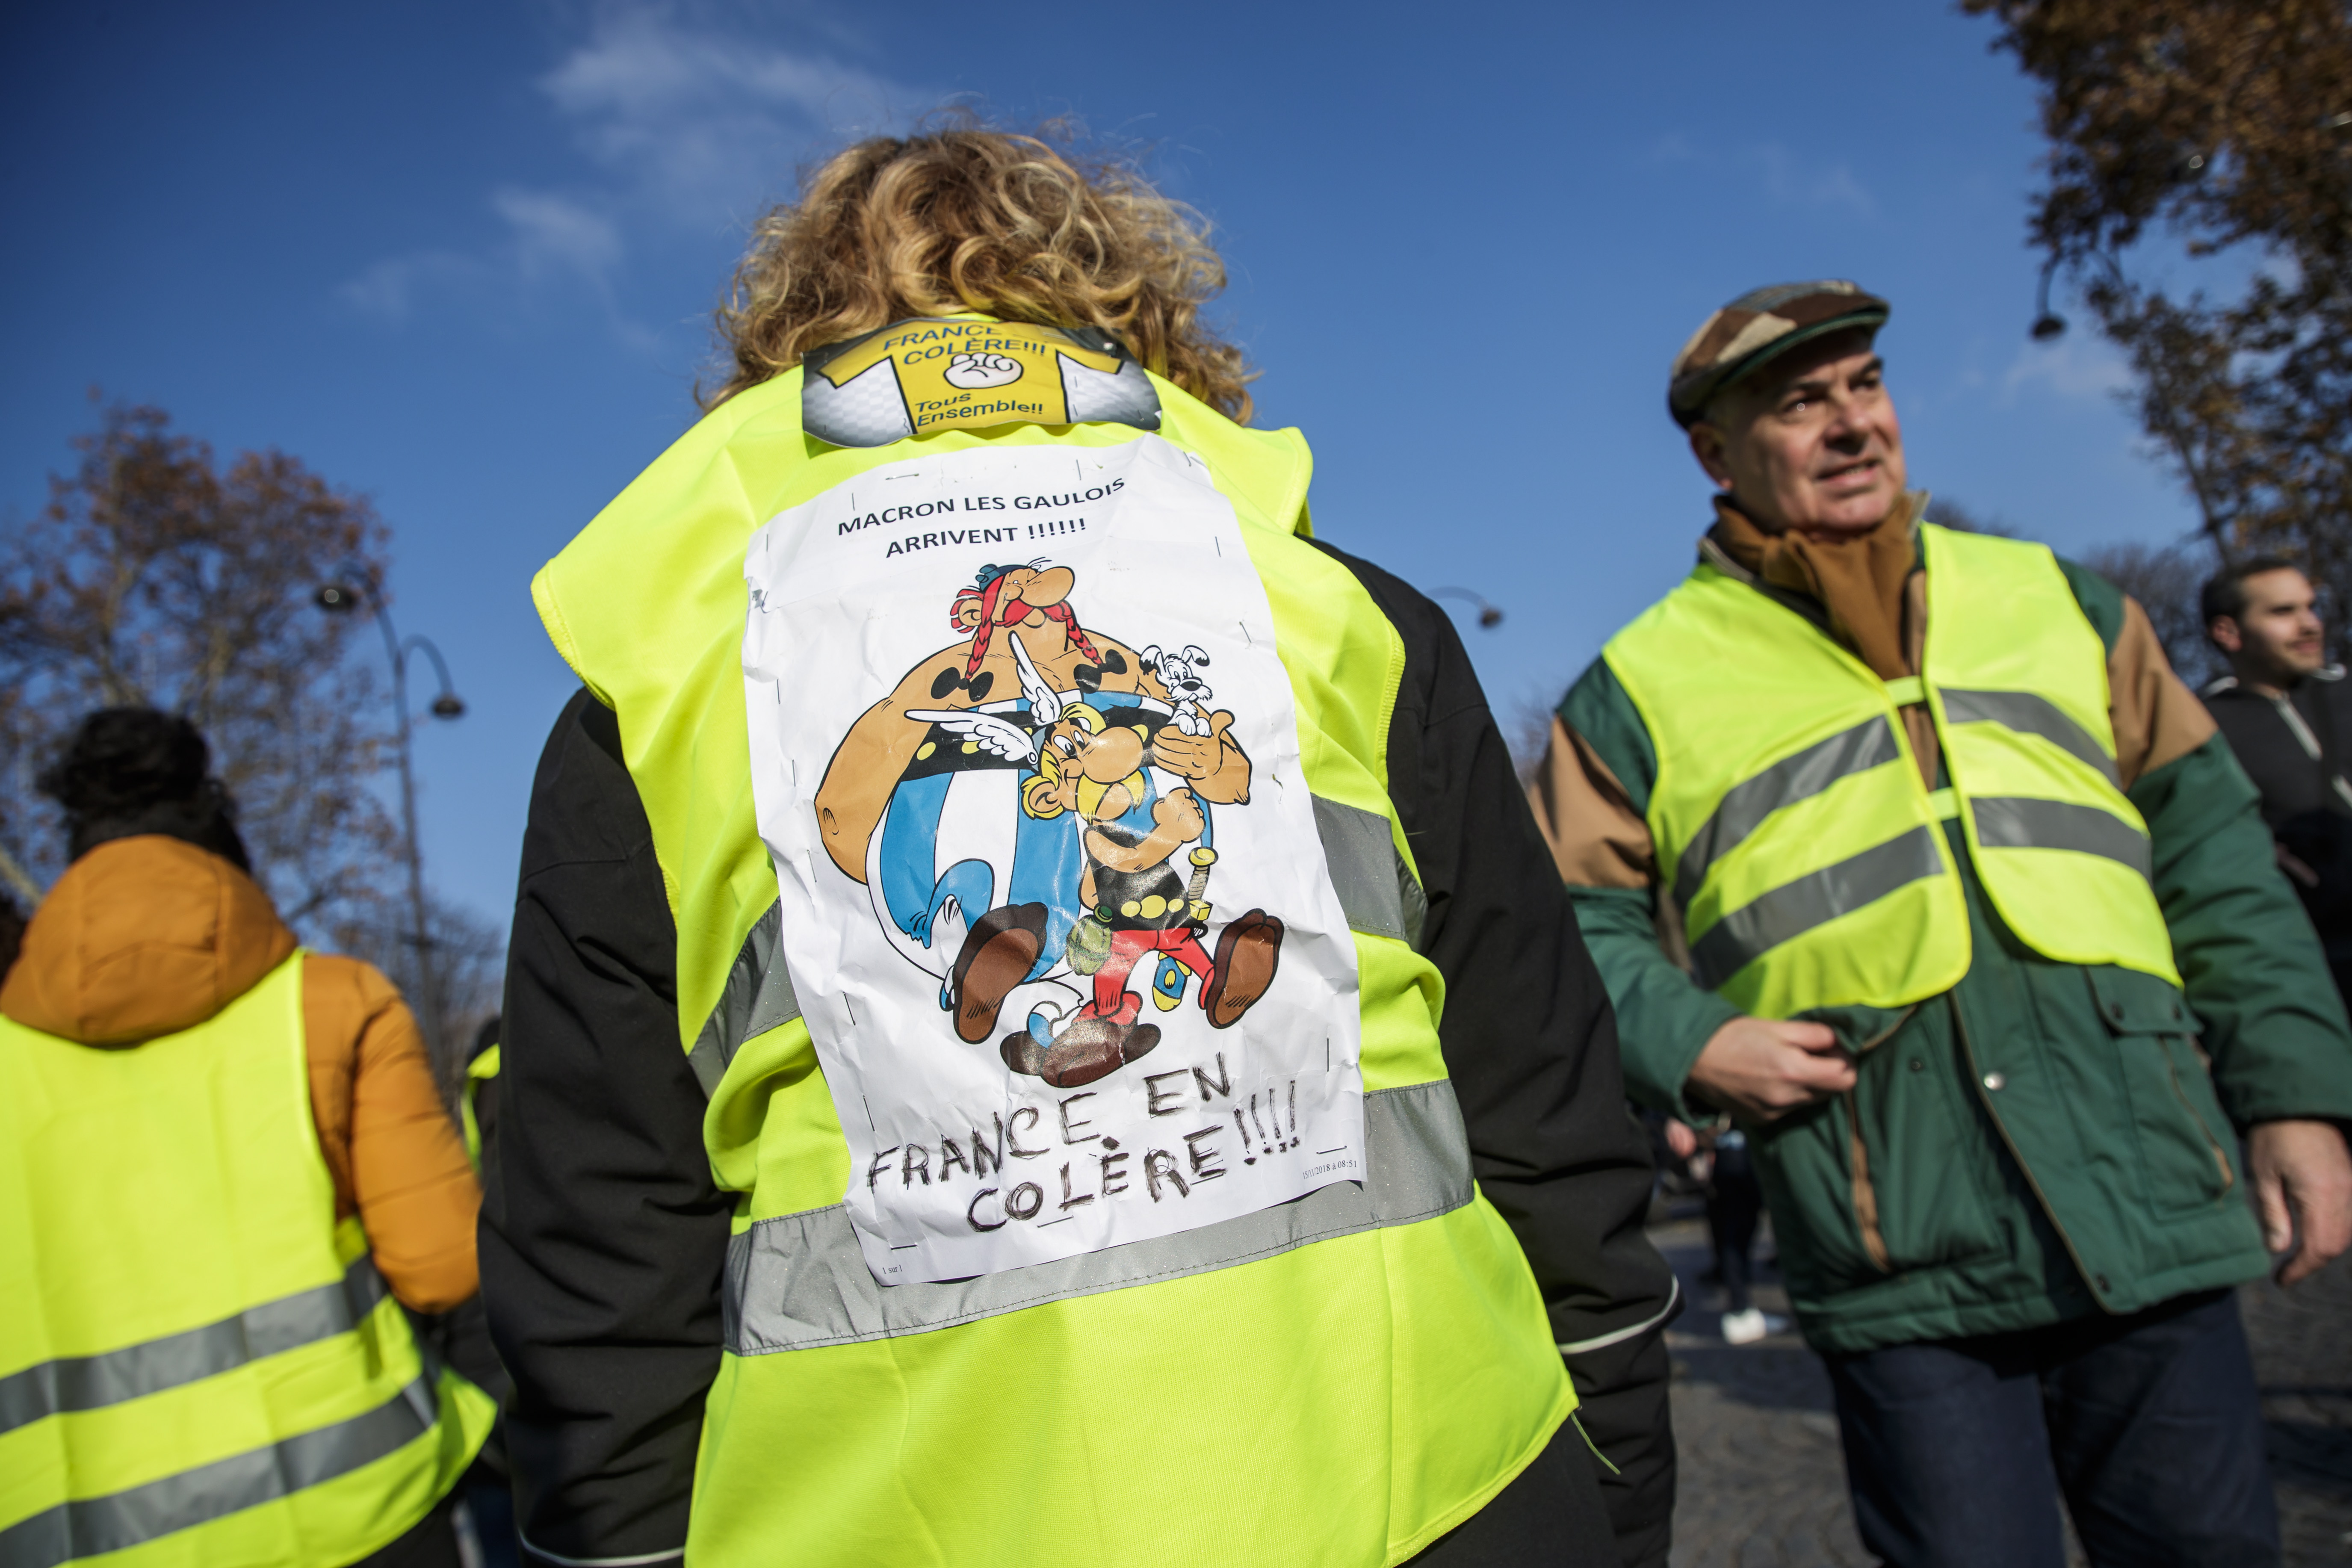
[{"label": "small printed Asterix with winged helmet and red trousers", "polygon": [[[1230,724],[1230,715],[1221,717]],[[1002,1044],[1007,1067],[1056,1088],[1091,1084],[1160,1044],[1160,1025],[1136,1023],[1143,999],[1127,990],[1143,954],[1160,954],[1152,983],[1160,1011],[1183,1001],[1190,971],[1216,1030],[1237,1023],[1265,994],[1282,961],[1284,926],[1265,910],[1228,924],[1214,959],[1200,945],[1211,912],[1202,896],[1216,865],[1216,849],[1202,844],[1209,811],[1183,785],[1145,802],[1155,736],[1167,733],[1167,722],[1112,724],[1077,703],[1047,726],[1035,748],[1037,776],[1021,788],[1028,816],[1077,816],[1087,856],[1080,900],[1089,917],[1073,929],[1065,950],[1075,971],[1094,973],[1094,1001],[1051,1039],[1021,1030]],[[1150,820],[1136,823],[1145,804]],[[1188,844],[1200,844],[1188,856],[1190,884],[1174,870],[1176,851]]]}]

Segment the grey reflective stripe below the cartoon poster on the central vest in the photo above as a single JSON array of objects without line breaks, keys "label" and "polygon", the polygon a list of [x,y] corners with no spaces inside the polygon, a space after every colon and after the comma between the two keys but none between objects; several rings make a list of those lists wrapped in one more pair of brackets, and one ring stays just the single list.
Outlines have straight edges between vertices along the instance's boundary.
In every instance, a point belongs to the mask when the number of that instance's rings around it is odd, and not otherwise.
[{"label": "grey reflective stripe below the cartoon poster on the central vest", "polygon": [[840,1204],[760,1220],[727,1244],[724,1342],[739,1356],[764,1356],[929,1333],[1451,1213],[1477,1197],[1454,1084],[1364,1095],[1364,1171],[1362,1185],[1334,1182],[1200,1229],[950,1284],[875,1284]]}]

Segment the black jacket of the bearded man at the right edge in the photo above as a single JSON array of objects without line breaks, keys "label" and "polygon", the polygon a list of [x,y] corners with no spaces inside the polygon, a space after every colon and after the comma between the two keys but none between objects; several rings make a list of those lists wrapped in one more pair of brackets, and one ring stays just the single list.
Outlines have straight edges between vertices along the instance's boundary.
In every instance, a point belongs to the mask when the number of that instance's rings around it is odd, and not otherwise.
[{"label": "black jacket of the bearded man at the right edge", "polygon": [[2263,795],[2270,835],[2293,856],[2281,867],[2328,964],[2352,961],[2352,682],[2328,668],[2267,698],[2225,675],[2201,696]]}]

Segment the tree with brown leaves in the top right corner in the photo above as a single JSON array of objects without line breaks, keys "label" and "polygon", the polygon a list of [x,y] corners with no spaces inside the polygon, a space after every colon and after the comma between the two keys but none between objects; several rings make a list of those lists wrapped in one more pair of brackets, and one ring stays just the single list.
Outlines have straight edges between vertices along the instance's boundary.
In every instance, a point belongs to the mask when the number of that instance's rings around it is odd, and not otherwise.
[{"label": "tree with brown leaves in the top right corner", "polygon": [[[2291,555],[2352,604],[2352,12],[1962,7],[2042,85],[2032,244],[2131,362],[2216,559]],[[2034,336],[2063,329],[2046,313]]]}]

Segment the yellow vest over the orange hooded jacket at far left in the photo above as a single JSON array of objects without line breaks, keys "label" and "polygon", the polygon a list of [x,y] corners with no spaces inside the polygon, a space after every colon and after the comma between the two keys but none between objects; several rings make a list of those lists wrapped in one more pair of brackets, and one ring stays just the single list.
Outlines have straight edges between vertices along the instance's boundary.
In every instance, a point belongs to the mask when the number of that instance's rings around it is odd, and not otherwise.
[{"label": "yellow vest over the orange hooded jacket at far left", "polygon": [[301,954],[99,1051],[0,1018],[0,1563],[350,1563],[489,1432],[336,1225]]}]

